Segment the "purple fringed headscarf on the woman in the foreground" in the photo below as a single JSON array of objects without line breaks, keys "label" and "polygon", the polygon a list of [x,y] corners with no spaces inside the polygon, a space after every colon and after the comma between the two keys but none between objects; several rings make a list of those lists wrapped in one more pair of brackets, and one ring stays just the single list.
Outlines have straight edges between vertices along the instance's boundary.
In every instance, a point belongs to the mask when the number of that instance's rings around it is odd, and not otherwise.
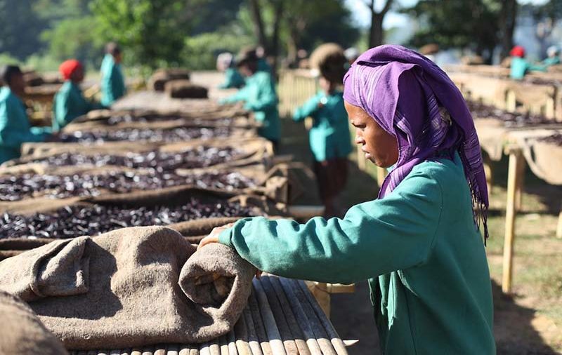
[{"label": "purple fringed headscarf on the woman in the foreground", "polygon": [[462,94],[443,70],[402,46],[371,48],[344,77],[344,100],[362,108],[398,141],[398,162],[379,198],[418,163],[440,154],[452,159],[458,152],[472,192],[475,223],[483,222],[488,237],[488,187],[480,143]]}]

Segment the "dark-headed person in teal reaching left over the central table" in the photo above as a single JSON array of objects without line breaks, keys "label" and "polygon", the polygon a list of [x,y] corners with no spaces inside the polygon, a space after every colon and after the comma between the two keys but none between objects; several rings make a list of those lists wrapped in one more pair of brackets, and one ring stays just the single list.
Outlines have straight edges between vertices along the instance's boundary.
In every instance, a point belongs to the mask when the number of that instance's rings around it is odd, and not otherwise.
[{"label": "dark-headed person in teal reaching left over the central table", "polygon": [[262,125],[258,128],[258,134],[270,140],[276,148],[281,135],[281,122],[277,110],[275,83],[269,73],[258,70],[258,60],[254,50],[244,50],[240,53],[236,65],[246,77],[246,85],[221,102],[244,102],[244,108],[254,112],[254,118]]}]

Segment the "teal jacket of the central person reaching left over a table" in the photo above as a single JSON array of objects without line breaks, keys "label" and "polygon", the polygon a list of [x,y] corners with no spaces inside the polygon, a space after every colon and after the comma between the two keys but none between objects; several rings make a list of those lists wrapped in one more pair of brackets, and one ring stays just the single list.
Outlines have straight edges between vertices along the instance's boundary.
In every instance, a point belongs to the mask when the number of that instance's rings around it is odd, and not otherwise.
[{"label": "teal jacket of the central person reaching left over a table", "polygon": [[258,129],[259,135],[268,140],[279,140],[281,122],[277,111],[277,93],[271,75],[256,72],[246,79],[246,86],[234,95],[221,100],[223,103],[244,102],[244,108],[254,112],[256,121],[263,126]]}]

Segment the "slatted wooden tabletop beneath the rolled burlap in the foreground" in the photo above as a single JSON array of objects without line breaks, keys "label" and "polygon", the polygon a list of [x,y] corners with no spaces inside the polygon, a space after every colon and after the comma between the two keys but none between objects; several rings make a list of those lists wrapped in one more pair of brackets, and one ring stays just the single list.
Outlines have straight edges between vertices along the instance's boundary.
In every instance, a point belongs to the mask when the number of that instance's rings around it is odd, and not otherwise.
[{"label": "slatted wooden tabletop beneath the rolled burlap in the foreground", "polygon": [[304,281],[254,279],[254,292],[233,330],[203,344],[71,351],[73,355],[346,355],[344,342]]}]

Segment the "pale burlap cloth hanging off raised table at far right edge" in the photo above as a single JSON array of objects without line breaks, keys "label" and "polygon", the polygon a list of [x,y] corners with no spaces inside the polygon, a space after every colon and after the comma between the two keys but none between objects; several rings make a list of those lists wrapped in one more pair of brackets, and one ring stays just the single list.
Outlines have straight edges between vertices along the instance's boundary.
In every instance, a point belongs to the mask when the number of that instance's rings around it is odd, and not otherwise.
[{"label": "pale burlap cloth hanging off raised table at far right edge", "polygon": [[562,185],[562,147],[540,138],[562,133],[562,126],[553,129],[514,130],[508,139],[523,150],[532,173],[552,185]]}]

